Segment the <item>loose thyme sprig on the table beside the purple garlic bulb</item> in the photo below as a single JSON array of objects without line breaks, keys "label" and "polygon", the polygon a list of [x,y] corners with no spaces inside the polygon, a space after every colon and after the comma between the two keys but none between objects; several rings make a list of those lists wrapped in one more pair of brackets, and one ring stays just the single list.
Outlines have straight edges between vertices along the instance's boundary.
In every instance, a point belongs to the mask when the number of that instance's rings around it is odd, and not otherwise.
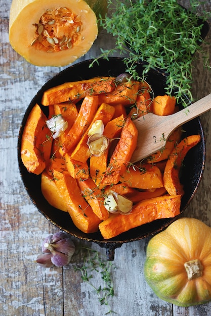
[{"label": "loose thyme sprig on the table beside the purple garlic bulb", "polygon": [[[114,286],[112,282],[112,269],[115,268],[112,261],[104,260],[98,251],[80,246],[78,247],[83,254],[83,264],[75,265],[74,270],[81,273],[81,279],[87,282],[98,295],[98,300],[101,305],[105,304],[108,307],[106,315],[113,315],[115,312],[110,309],[110,299],[114,296]],[[100,275],[102,284],[96,287],[92,280],[94,273]]]}]

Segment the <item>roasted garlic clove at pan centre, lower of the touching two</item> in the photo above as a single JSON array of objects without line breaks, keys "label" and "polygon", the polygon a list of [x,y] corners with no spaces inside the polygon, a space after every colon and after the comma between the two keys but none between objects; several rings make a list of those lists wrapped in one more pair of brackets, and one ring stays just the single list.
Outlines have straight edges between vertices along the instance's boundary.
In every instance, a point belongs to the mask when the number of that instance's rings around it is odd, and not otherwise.
[{"label": "roasted garlic clove at pan centre, lower of the touching two", "polygon": [[100,156],[108,148],[109,139],[101,134],[93,134],[89,137],[87,144],[94,156]]}]

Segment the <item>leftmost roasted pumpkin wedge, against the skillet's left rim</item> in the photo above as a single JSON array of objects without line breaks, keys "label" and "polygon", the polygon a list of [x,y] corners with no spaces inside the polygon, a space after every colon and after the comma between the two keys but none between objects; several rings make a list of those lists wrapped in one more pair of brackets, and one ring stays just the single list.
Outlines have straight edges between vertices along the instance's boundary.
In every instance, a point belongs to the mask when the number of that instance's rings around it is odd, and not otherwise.
[{"label": "leftmost roasted pumpkin wedge, against the skillet's left rim", "polygon": [[48,163],[52,141],[47,117],[38,104],[32,108],[21,139],[21,159],[28,172],[39,175]]}]

